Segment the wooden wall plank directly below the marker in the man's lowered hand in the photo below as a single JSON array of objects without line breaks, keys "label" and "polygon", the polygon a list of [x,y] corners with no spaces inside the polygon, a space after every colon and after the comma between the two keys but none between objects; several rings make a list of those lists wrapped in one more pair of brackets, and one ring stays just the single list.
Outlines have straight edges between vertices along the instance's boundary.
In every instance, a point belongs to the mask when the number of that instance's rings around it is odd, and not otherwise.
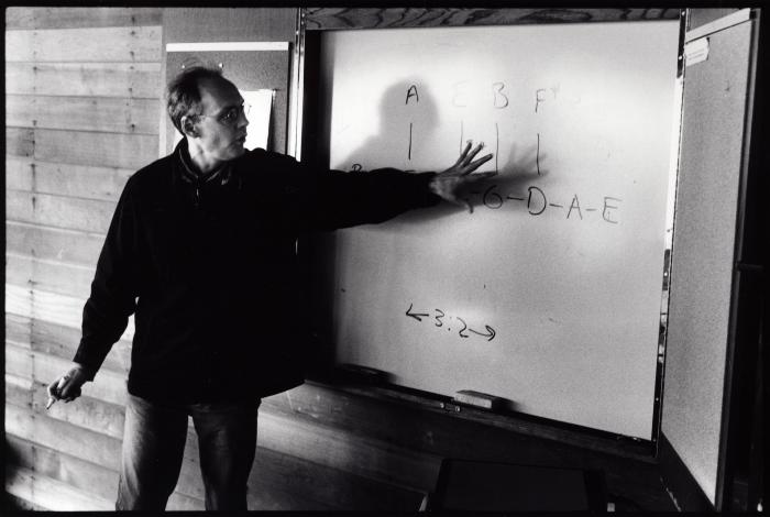
[{"label": "wooden wall plank directly below the marker in the man's lowered hand", "polygon": [[121,442],[13,404],[6,405],[6,432],[118,471]]}]

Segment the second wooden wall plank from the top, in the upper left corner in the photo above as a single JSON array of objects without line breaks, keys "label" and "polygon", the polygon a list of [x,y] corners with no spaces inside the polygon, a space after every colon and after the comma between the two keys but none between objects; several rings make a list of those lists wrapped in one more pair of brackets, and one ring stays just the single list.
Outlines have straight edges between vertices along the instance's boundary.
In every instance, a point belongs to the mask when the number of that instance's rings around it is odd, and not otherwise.
[{"label": "second wooden wall plank from the top, in the upper left corner", "polygon": [[6,31],[7,62],[160,62],[160,25]]}]

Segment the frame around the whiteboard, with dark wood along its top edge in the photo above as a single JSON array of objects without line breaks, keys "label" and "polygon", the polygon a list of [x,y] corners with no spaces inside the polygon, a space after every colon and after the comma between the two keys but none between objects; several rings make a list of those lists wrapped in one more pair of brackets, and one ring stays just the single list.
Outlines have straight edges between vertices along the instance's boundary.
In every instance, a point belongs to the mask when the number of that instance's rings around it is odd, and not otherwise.
[{"label": "frame around the whiteboard, with dark wood along its top edge", "polygon": [[[289,132],[287,142],[290,142],[289,148],[294,151],[293,156],[297,160],[302,158],[304,138],[308,131],[305,125],[306,110],[306,91],[311,88],[306,88],[308,76],[305,74],[307,63],[307,44],[308,33],[318,34],[328,30],[360,30],[360,29],[376,29],[376,28],[410,28],[426,29],[435,26],[475,26],[475,25],[519,25],[531,23],[570,23],[570,22],[634,22],[634,21],[660,21],[660,20],[679,20],[680,36],[678,48],[678,72],[675,77],[674,108],[672,109],[672,144],[671,160],[669,173],[669,191],[667,200],[666,215],[666,235],[664,235],[664,260],[663,272],[661,272],[661,301],[660,301],[660,328],[658,343],[658,365],[654,381],[654,402],[652,410],[652,430],[651,439],[645,440],[625,435],[616,435],[608,431],[552,420],[542,417],[536,417],[527,414],[515,415],[498,415],[492,414],[494,417],[487,418],[480,410],[461,408],[453,406],[451,400],[439,394],[418,392],[413,388],[385,385],[377,386],[376,389],[364,388],[354,389],[345,387],[364,395],[370,395],[376,392],[377,396],[386,396],[402,400],[410,400],[413,404],[418,403],[422,406],[436,405],[441,410],[446,410],[461,418],[470,418],[499,426],[499,419],[504,420],[505,426],[513,428],[517,432],[524,432],[535,436],[548,436],[559,441],[579,443],[581,447],[588,447],[598,450],[613,450],[616,453],[625,455],[636,455],[637,458],[654,457],[658,453],[660,421],[662,415],[662,393],[663,393],[663,375],[666,362],[666,344],[668,337],[668,312],[669,312],[669,296],[670,288],[669,278],[671,273],[671,248],[673,242],[673,221],[675,212],[675,186],[679,175],[679,155],[681,143],[681,122],[682,122],[682,92],[683,92],[683,55],[684,55],[684,37],[685,37],[685,16],[684,10],[680,9],[636,9],[626,10],[620,13],[616,9],[590,9],[590,10],[559,10],[554,13],[548,9],[497,9],[493,11],[492,16],[476,19],[474,18],[474,9],[420,9],[407,11],[420,11],[419,15],[409,19],[405,15],[404,9],[345,9],[343,23],[339,23],[337,16],[338,9],[326,8],[301,8],[298,13],[297,34],[294,46],[293,67],[290,70],[290,98],[289,106]],[[373,15],[372,11],[377,11],[378,15]],[[488,12],[488,10],[485,10]],[[590,11],[588,19],[585,14]],[[469,15],[470,14],[470,15]],[[393,23],[393,16],[398,20]],[[378,20],[381,24],[372,24],[372,20]],[[426,23],[426,20],[428,22]],[[310,121],[315,123],[317,121]],[[315,156],[311,156],[315,157]],[[321,380],[319,380],[321,381]],[[322,380],[327,382],[328,380]],[[492,411],[488,411],[492,413]],[[519,421],[519,424],[517,424]],[[586,444],[585,437],[593,437],[594,441]]]}]

